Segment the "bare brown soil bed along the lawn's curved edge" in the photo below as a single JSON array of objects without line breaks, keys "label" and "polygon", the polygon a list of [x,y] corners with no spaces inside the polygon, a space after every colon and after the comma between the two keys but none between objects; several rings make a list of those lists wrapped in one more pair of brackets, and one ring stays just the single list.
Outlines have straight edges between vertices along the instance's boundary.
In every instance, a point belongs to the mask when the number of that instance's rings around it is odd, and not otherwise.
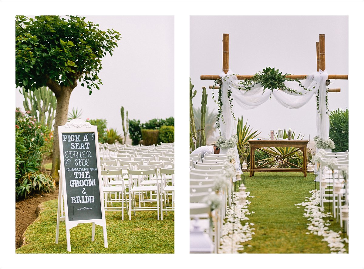
[{"label": "bare brown soil bed along the lawn's curved edge", "polygon": [[58,198],[58,187],[56,184],[56,190],[52,193],[32,194],[24,200],[15,202],[15,248],[23,245],[24,231],[38,217],[38,205]]}]

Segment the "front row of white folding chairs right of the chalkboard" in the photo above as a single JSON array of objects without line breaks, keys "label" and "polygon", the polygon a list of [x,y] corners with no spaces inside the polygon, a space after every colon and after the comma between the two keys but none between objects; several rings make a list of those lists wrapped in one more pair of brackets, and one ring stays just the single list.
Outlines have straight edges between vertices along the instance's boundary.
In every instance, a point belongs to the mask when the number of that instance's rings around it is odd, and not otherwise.
[{"label": "front row of white folding chairs right of the chalkboard", "polygon": [[[108,166],[104,168],[108,168],[108,170],[101,170],[105,184],[105,186],[103,186],[103,192],[105,194],[104,206],[106,211],[122,211],[123,220],[124,208],[126,208],[129,214],[129,219],[131,220],[131,211],[134,211],[135,214],[135,211],[156,210],[158,214],[158,220],[159,212],[161,213],[161,219],[163,220],[163,211],[167,212],[174,210],[174,185],[167,185],[166,179],[166,176],[168,175],[174,177],[174,169],[165,169],[161,167],[158,169],[155,167],[154,169],[149,170],[132,170],[127,168],[128,180],[125,180],[124,178],[126,173],[120,167]],[[120,169],[113,170],[112,168]],[[126,192],[127,188],[129,190],[128,193]],[[150,192],[151,194],[153,193],[156,197],[153,198],[153,196],[150,195],[148,198],[146,196],[147,192]],[[115,198],[111,198],[111,193],[114,194]],[[128,204],[126,203],[126,206],[124,207],[124,201],[127,201],[127,194]],[[167,205],[167,194],[171,194],[172,196],[172,205],[169,205],[169,200]],[[139,197],[138,203],[136,201],[135,195]],[[113,206],[112,202],[121,202],[122,206]],[[157,206],[145,206],[145,202],[157,202]],[[164,208],[163,203],[165,205]]]}]

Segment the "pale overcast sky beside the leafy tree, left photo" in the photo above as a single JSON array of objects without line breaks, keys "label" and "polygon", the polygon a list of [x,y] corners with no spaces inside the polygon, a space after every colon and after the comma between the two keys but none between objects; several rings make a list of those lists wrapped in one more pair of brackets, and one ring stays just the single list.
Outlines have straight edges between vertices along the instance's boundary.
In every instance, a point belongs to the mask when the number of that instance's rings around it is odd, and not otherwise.
[{"label": "pale overcast sky beside the leafy tree, left photo", "polygon": [[[106,119],[107,127],[119,133],[122,106],[129,119],[141,123],[174,117],[174,16],[84,16],[103,31],[119,31],[122,38],[113,55],[102,59],[100,90],[89,95],[78,83],[68,111],[82,109],[84,120]],[[16,106],[23,108],[23,101],[16,91]]]}]

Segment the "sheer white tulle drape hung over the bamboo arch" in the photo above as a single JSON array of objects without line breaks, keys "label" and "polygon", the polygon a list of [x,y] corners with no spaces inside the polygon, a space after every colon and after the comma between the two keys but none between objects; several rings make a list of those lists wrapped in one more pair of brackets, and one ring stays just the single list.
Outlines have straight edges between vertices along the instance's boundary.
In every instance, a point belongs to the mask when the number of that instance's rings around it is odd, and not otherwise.
[{"label": "sheer white tulle drape hung over the bamboo arch", "polygon": [[[220,74],[222,79],[221,91],[222,91],[222,117],[220,117],[220,132],[221,136],[225,139],[229,139],[233,134],[236,134],[237,121],[234,120],[232,112],[236,105],[244,109],[253,109],[268,101],[270,98],[270,89],[265,89],[261,84],[254,85],[249,91],[246,91],[242,84],[239,84],[240,80],[233,75],[233,72],[229,70],[227,74],[222,72]],[[279,104],[286,108],[297,109],[308,103],[312,96],[316,96],[319,91],[319,106],[316,116],[316,135],[321,138],[329,138],[329,117],[326,108],[326,80],[328,74],[325,71],[315,72],[309,75],[305,80],[301,80],[302,86],[311,91],[306,91],[296,81],[285,81],[284,84],[297,91],[298,93],[292,93],[282,90],[274,90],[272,95],[278,101]],[[228,90],[230,89],[232,101],[232,109],[230,109]],[[299,94],[301,93],[301,94]],[[315,98],[316,101],[316,98]],[[235,114],[235,113],[234,113]],[[227,153],[228,149],[220,149],[220,153]],[[241,172],[239,157],[236,158],[236,169]]]}]

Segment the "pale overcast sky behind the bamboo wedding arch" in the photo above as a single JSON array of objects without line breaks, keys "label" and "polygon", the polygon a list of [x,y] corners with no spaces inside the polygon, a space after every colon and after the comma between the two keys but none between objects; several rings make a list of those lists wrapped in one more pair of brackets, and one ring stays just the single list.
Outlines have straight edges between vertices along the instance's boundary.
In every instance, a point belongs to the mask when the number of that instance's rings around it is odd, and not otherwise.
[{"label": "pale overcast sky behind the bamboo wedding arch", "polygon": [[[206,87],[207,106],[217,112],[208,89],[214,81],[200,80],[200,75],[222,72],[223,33],[229,33],[229,68],[235,74],[254,75],[268,66],[283,74],[311,74],[316,71],[320,34],[325,34],[326,71],[348,74],[348,16],[191,16],[190,76],[198,91],[195,106],[201,106],[201,89]],[[340,93],[328,94],[329,110],[348,108],[348,80],[332,80],[329,88],[341,88]],[[255,109],[234,108],[236,118],[243,116],[264,138],[278,128],[292,128],[306,139],[316,133],[315,97],[299,109],[285,108],[274,97]]]}]

